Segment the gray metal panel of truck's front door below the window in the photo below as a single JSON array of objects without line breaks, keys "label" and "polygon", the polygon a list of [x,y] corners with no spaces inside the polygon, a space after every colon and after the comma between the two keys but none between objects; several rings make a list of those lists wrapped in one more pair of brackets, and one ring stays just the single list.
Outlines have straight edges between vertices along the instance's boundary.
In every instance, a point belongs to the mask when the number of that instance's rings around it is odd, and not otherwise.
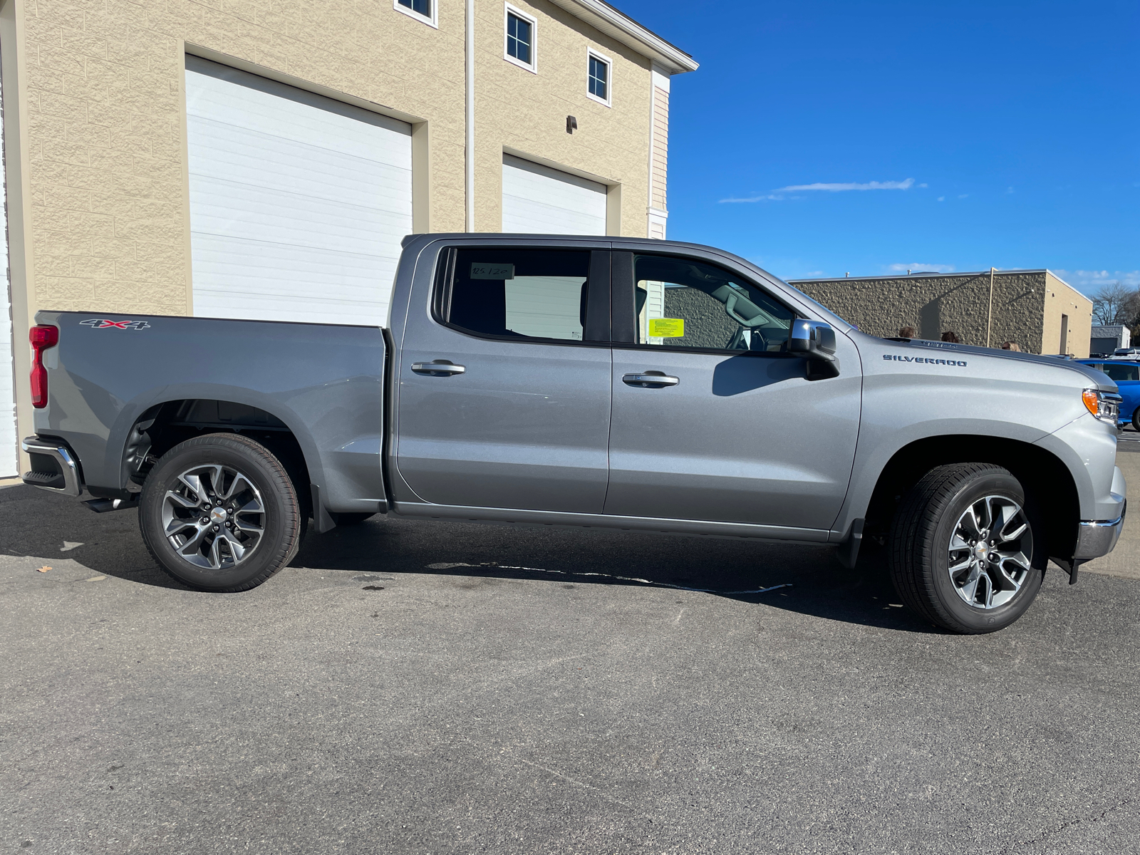
[{"label": "gray metal panel of truck's front door below the window", "polygon": [[[613,350],[605,513],[829,529],[847,495],[860,360],[840,334],[838,377],[808,382],[785,355]],[[625,374],[660,370],[675,386]]]}]

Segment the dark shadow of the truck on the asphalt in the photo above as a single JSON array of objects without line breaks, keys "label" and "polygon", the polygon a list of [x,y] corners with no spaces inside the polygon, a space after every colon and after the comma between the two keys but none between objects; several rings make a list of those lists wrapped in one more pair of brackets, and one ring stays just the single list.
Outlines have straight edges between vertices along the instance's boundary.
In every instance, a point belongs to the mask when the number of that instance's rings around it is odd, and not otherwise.
[{"label": "dark shadow of the truck on the asphalt", "polygon": [[[38,562],[74,561],[93,573],[182,588],[147,553],[137,511],[96,514],[32,487],[0,490],[0,555],[34,559],[27,572]],[[310,526],[291,567],[665,587],[864,626],[940,632],[902,608],[880,554],[865,554],[852,571],[822,546],[376,516],[325,535]]]}]

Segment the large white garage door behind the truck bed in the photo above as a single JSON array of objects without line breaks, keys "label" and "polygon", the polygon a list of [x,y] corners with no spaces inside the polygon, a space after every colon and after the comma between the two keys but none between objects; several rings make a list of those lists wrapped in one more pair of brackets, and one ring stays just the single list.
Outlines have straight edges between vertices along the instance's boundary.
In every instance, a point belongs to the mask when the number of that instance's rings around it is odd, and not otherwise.
[{"label": "large white garage door behind the truck bed", "polygon": [[384,325],[412,128],[186,58],[194,314]]}]

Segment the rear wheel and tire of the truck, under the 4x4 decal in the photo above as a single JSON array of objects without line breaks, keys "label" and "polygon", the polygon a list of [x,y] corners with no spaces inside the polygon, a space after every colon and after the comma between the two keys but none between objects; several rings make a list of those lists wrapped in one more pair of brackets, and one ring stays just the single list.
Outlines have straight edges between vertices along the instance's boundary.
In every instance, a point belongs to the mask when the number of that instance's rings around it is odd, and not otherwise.
[{"label": "rear wheel and tire of the truck, under the 4x4 decal", "polygon": [[199,591],[256,587],[292,561],[304,522],[280,461],[236,433],[174,446],[147,475],[139,502],[150,555]]}]

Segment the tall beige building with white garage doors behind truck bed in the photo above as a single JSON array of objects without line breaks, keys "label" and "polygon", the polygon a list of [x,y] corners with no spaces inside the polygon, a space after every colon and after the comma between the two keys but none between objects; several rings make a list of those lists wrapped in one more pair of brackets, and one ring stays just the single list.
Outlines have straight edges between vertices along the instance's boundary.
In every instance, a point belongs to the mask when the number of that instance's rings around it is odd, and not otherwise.
[{"label": "tall beige building with white garage doors behind truck bed", "polygon": [[39,309],[383,323],[408,233],[663,238],[697,67],[601,0],[2,0],[0,60],[0,478]]}]

